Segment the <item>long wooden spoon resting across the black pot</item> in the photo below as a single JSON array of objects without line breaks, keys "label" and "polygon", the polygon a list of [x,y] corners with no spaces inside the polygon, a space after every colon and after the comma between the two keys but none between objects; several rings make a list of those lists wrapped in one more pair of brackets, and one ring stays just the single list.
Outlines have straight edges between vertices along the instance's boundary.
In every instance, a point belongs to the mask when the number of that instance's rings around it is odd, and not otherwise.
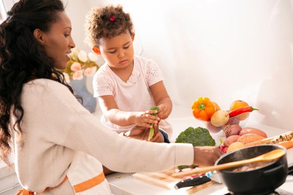
[{"label": "long wooden spoon resting across the black pot", "polygon": [[283,149],[275,149],[272,150],[268,153],[265,153],[263,155],[260,156],[256,156],[254,158],[250,158],[250,159],[246,159],[246,160],[239,160],[239,161],[235,161],[235,162],[228,162],[228,163],[224,163],[224,164],[220,164],[220,165],[214,165],[214,166],[209,166],[209,167],[204,167],[204,168],[200,168],[200,169],[196,169],[196,170],[191,170],[188,172],[180,172],[177,174],[172,174],[171,176],[174,177],[179,177],[179,176],[190,176],[193,174],[202,174],[202,173],[206,173],[209,171],[217,171],[217,170],[222,170],[222,169],[229,169],[232,167],[238,167],[244,164],[249,164],[249,163],[253,163],[253,162],[264,162],[264,161],[272,161],[275,160],[281,156],[285,155],[285,150]]}]

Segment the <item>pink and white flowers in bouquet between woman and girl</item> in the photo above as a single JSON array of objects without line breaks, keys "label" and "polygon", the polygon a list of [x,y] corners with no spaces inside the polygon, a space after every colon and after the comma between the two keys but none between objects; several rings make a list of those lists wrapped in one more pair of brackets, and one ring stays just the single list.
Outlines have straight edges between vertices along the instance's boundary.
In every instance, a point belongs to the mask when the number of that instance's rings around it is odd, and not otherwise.
[{"label": "pink and white flowers in bouquet between woman and girl", "polygon": [[67,62],[67,67],[63,70],[63,75],[67,83],[70,80],[82,80],[85,77],[92,77],[99,69],[96,63],[98,55],[84,50],[74,48],[69,54],[70,60]]}]

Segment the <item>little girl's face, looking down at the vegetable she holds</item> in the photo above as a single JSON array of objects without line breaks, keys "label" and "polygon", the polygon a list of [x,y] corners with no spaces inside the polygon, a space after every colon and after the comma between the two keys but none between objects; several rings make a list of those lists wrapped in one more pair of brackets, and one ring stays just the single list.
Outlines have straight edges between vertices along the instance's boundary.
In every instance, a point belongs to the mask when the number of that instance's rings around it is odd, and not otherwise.
[{"label": "little girl's face, looking down at the vegetable she holds", "polygon": [[112,69],[119,70],[133,64],[133,39],[134,34],[127,31],[117,37],[100,40],[100,53]]}]

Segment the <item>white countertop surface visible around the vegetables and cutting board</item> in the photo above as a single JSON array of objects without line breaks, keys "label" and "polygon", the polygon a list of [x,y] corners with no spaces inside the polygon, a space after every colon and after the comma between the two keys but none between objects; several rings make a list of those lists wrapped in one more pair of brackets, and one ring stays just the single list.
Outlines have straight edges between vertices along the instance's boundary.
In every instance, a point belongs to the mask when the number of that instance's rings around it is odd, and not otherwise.
[{"label": "white countertop surface visible around the vegetables and cutting board", "polygon": [[[173,126],[171,142],[174,141],[181,131],[185,130],[189,126],[203,127],[203,124],[193,117],[171,118],[169,119],[169,122]],[[290,131],[258,124],[253,122],[251,119],[248,120],[245,126],[261,129],[267,133],[268,137],[277,136]],[[211,136],[216,140],[216,144],[219,143],[219,138],[224,138],[222,131],[216,134],[211,134]],[[293,165],[293,148],[287,150],[287,161],[289,166]],[[106,176],[106,178],[114,195],[183,195],[181,191],[168,190],[163,187],[151,185],[134,179],[132,174],[115,173]],[[224,195],[226,193],[228,193],[228,191],[223,184],[215,183],[194,193],[193,195]]]}]

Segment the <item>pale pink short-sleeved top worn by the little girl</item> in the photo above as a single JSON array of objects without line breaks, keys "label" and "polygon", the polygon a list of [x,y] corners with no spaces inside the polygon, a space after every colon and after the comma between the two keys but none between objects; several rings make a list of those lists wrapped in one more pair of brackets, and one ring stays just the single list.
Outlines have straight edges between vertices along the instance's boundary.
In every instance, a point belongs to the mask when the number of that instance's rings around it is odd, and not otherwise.
[{"label": "pale pink short-sleeved top worn by the little girl", "polygon": [[[155,106],[149,87],[164,79],[161,70],[152,59],[134,56],[133,61],[132,74],[126,82],[119,78],[107,63],[103,64],[93,78],[94,97],[112,95],[122,111],[147,111],[151,106]],[[113,124],[104,115],[101,121],[118,133],[126,132],[135,126]],[[172,127],[166,120],[160,121],[159,129],[171,137]]]}]

